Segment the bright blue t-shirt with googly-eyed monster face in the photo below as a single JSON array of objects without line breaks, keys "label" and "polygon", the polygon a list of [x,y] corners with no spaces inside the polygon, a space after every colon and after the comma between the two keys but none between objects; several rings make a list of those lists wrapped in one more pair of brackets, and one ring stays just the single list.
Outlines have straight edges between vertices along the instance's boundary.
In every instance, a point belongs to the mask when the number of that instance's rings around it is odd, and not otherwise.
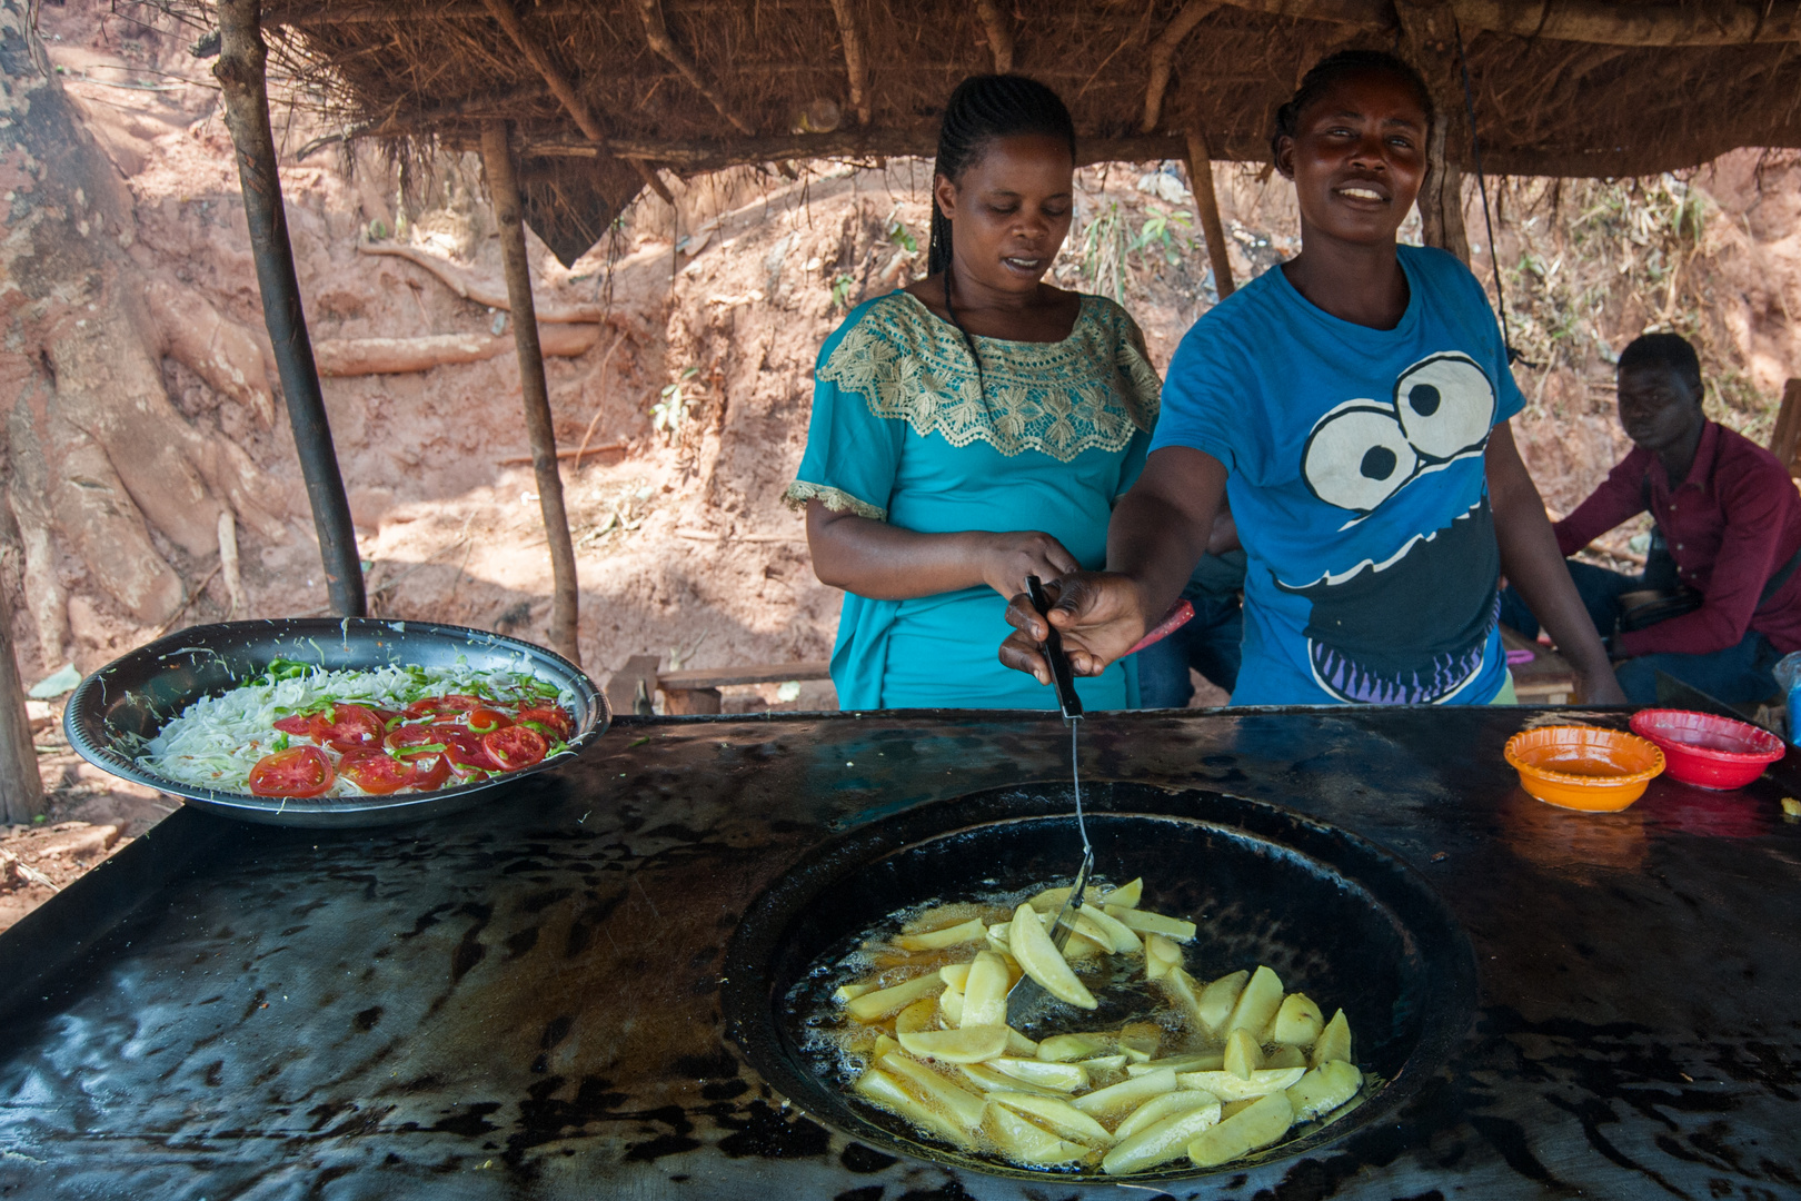
[{"label": "bright blue t-shirt with googly-eyed monster face", "polygon": [[1232,704],[1484,704],[1506,682],[1482,452],[1524,405],[1482,286],[1399,247],[1394,330],[1281,268],[1201,317],[1151,441],[1205,450],[1250,558]]}]

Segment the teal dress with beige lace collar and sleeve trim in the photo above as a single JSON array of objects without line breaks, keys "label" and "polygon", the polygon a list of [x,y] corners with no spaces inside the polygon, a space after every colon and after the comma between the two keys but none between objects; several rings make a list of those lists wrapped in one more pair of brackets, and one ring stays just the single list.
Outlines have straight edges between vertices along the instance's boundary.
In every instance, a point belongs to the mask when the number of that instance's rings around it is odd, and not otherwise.
[{"label": "teal dress with beige lace collar and sleeve trim", "polygon": [[[1084,295],[1061,342],[976,339],[908,292],[868,301],[819,348],[812,421],[785,499],[920,533],[1041,529],[1106,564],[1115,501],[1144,468],[1162,384],[1118,304]],[[987,587],[911,600],[845,594],[832,682],[845,709],[1055,708],[1001,666],[1007,601]],[[1091,709],[1136,706],[1131,661],[1075,684]]]}]

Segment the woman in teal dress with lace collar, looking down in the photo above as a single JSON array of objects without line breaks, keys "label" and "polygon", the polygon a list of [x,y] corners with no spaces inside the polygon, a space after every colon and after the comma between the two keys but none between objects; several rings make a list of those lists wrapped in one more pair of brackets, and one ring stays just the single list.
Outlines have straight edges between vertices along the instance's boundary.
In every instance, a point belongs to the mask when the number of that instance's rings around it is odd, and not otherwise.
[{"label": "woman in teal dress with lace collar, looking down", "polygon": [[[845,589],[832,682],[845,709],[1055,708],[996,657],[1007,600],[1106,560],[1144,466],[1160,384],[1126,312],[1043,283],[1070,232],[1075,128],[1018,76],[951,94],[929,275],[868,301],[819,349],[789,504],[823,583]],[[1136,706],[1131,661],[1077,681]]]}]

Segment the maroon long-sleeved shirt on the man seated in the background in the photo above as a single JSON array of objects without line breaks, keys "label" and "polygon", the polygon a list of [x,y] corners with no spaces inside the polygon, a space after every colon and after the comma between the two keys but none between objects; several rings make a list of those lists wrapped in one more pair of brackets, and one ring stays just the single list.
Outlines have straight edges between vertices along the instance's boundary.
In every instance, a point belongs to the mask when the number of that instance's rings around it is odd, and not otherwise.
[{"label": "maroon long-sleeved shirt on the man seated in the background", "polygon": [[1801,571],[1758,603],[1763,585],[1801,549],[1801,497],[1776,456],[1707,421],[1688,479],[1671,492],[1662,461],[1634,448],[1594,495],[1556,524],[1558,549],[1574,555],[1643,513],[1646,493],[1677,574],[1702,594],[1702,607],[1621,634],[1614,639],[1619,652],[1706,655],[1736,646],[1747,630],[1758,630],[1783,654],[1801,650]]}]

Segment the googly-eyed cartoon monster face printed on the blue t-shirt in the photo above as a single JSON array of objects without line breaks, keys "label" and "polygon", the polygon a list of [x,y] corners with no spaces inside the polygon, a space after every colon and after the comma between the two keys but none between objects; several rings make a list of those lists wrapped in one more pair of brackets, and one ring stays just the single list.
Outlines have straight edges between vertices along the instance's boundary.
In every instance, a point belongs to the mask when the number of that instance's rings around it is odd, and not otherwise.
[{"label": "googly-eyed cartoon monster face printed on the blue t-shirt", "polygon": [[[1432,355],[1401,373],[1389,403],[1351,400],[1320,418],[1302,448],[1302,479],[1351,515],[1342,526],[1351,529],[1416,479],[1480,457],[1495,403],[1468,355]],[[1484,495],[1387,555],[1311,583],[1275,583],[1313,603],[1304,634],[1320,688],[1360,704],[1434,704],[1480,672],[1498,574]]]}]

